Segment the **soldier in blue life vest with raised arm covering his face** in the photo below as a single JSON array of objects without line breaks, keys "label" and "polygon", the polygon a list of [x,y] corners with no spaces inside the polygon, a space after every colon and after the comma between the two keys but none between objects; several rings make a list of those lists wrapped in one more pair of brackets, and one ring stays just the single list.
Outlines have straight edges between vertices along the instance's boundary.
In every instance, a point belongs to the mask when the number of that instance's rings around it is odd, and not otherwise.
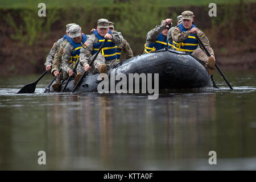
[{"label": "soldier in blue life vest with raised arm covering his face", "polygon": [[149,31],[146,36],[146,44],[144,44],[144,52],[150,53],[167,47],[167,34],[171,28],[172,19],[162,20],[160,26],[156,25],[154,29]]}]

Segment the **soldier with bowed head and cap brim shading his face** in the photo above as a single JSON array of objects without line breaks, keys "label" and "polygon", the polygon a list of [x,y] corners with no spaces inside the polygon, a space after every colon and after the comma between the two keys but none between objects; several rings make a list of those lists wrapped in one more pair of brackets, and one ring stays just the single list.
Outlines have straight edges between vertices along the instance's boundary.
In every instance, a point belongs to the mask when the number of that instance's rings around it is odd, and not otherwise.
[{"label": "soldier with bowed head and cap brim shading his face", "polygon": [[[70,64],[73,63],[73,67],[75,67],[76,62],[79,60],[80,56],[80,49],[82,44],[86,42],[86,35],[82,34],[81,27],[77,24],[71,26],[69,28],[69,38],[68,43],[63,50],[63,60],[61,63],[61,68],[68,73],[69,76],[73,76],[75,73],[73,72],[72,68],[70,68]],[[82,76],[83,69],[79,64],[76,68],[76,77],[74,81],[74,86],[76,85],[77,81],[79,81],[80,77]]]}]

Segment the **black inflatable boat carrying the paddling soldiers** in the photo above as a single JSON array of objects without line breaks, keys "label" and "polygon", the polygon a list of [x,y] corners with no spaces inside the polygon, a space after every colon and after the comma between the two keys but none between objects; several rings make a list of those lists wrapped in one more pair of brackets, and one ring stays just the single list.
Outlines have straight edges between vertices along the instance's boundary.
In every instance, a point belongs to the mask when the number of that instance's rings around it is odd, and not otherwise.
[{"label": "black inflatable boat carrying the paddling soldiers", "polygon": [[[110,72],[112,72],[110,74]],[[108,75],[123,73],[158,73],[159,89],[169,88],[201,88],[211,86],[207,69],[192,55],[170,49],[161,49],[145,55],[138,55],[131,59],[123,60],[114,68],[108,70]],[[98,74],[88,74],[76,92],[97,92]],[[154,80],[154,76],[152,76]],[[127,79],[128,81],[128,79]],[[115,81],[117,84],[118,81]],[[65,82],[61,86],[63,88]],[[109,82],[110,84],[110,82]],[[140,83],[141,84],[141,83]],[[127,82],[128,85],[128,82]],[[110,86],[109,86],[110,88]],[[67,85],[67,91],[73,90],[73,80]]]}]

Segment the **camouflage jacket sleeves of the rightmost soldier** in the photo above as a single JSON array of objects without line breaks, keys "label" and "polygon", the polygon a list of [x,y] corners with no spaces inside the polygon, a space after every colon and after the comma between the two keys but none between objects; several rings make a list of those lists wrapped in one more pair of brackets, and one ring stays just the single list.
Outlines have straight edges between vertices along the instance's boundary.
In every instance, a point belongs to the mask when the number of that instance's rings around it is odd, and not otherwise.
[{"label": "camouflage jacket sleeves of the rightmost soldier", "polygon": [[[210,47],[210,43],[209,43],[209,40],[208,40],[207,36],[204,34],[204,32],[199,30],[199,28],[196,27],[196,29],[197,29],[197,35],[199,36],[199,39],[202,41],[204,46],[207,48],[207,50],[210,53],[210,55],[214,56],[213,49],[212,49],[212,47]],[[183,42],[183,40],[187,39],[190,34],[191,33],[189,33],[189,31],[180,32],[180,28],[179,27],[175,27],[171,31],[172,40],[174,40],[175,42]],[[201,47],[201,45],[200,45],[200,47]],[[201,49],[204,50],[203,47],[201,47]]]}]

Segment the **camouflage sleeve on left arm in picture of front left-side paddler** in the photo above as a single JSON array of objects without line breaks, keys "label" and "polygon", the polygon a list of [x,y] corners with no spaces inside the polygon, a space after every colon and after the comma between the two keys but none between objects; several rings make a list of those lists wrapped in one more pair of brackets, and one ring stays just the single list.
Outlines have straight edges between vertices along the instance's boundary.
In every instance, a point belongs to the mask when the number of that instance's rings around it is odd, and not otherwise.
[{"label": "camouflage sleeve on left arm in picture of front left-side paddler", "polygon": [[85,64],[89,64],[89,56],[93,53],[93,43],[97,43],[96,36],[93,34],[86,40],[84,44],[82,44],[82,48],[80,49],[79,60],[80,64],[84,67]]}]

